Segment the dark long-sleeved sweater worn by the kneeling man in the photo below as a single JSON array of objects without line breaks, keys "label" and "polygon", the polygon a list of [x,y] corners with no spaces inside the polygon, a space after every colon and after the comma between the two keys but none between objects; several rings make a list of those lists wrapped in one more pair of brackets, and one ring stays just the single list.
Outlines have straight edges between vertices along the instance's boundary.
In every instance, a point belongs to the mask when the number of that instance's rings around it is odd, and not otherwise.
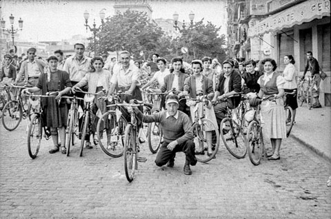
[{"label": "dark long-sleeved sweater worn by the kneeling man", "polygon": [[136,111],[138,118],[142,119],[143,123],[160,123],[163,132],[163,139],[166,143],[171,143],[177,140],[177,143],[181,145],[186,140],[192,139],[192,123],[188,115],[181,111],[178,111],[178,118],[169,116],[166,118],[166,111],[152,114],[151,116],[143,115],[139,110]]}]

